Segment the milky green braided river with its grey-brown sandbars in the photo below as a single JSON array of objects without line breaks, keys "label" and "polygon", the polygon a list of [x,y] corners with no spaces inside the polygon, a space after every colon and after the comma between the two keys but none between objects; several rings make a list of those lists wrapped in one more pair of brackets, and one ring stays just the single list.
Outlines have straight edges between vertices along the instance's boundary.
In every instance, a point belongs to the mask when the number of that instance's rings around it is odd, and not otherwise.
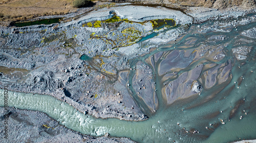
[{"label": "milky green braided river with its grey-brown sandbars", "polygon": [[[137,142],[232,142],[256,138],[256,16],[187,27],[176,41],[130,61],[118,81],[149,117],[96,119],[51,96],[8,92],[8,105],[45,112],[82,134]],[[147,86],[142,91],[139,79]],[[0,90],[4,101],[4,90]],[[0,103],[4,106],[4,102]]]}]

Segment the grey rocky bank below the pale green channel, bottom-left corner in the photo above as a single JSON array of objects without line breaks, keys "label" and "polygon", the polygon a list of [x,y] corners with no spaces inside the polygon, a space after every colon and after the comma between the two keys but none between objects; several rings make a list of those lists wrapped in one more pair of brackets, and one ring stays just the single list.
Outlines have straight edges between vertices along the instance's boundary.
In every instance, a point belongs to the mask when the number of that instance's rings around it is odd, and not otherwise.
[{"label": "grey rocky bank below the pale green channel, bottom-left corner", "polygon": [[[39,111],[10,108],[6,113],[4,110],[1,108],[0,120],[2,122],[5,118],[9,119],[7,142],[134,142],[128,138],[111,138],[108,134],[97,138],[84,135],[60,126]],[[4,128],[4,124],[0,126]]]}]

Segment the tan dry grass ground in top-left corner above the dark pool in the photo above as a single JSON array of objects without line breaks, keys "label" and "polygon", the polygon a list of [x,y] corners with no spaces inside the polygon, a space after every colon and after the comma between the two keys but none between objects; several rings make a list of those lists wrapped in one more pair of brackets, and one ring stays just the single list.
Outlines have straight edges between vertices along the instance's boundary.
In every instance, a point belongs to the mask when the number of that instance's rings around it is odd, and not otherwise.
[{"label": "tan dry grass ground in top-left corner above the dark pool", "polygon": [[76,11],[73,0],[0,0],[0,22]]}]

